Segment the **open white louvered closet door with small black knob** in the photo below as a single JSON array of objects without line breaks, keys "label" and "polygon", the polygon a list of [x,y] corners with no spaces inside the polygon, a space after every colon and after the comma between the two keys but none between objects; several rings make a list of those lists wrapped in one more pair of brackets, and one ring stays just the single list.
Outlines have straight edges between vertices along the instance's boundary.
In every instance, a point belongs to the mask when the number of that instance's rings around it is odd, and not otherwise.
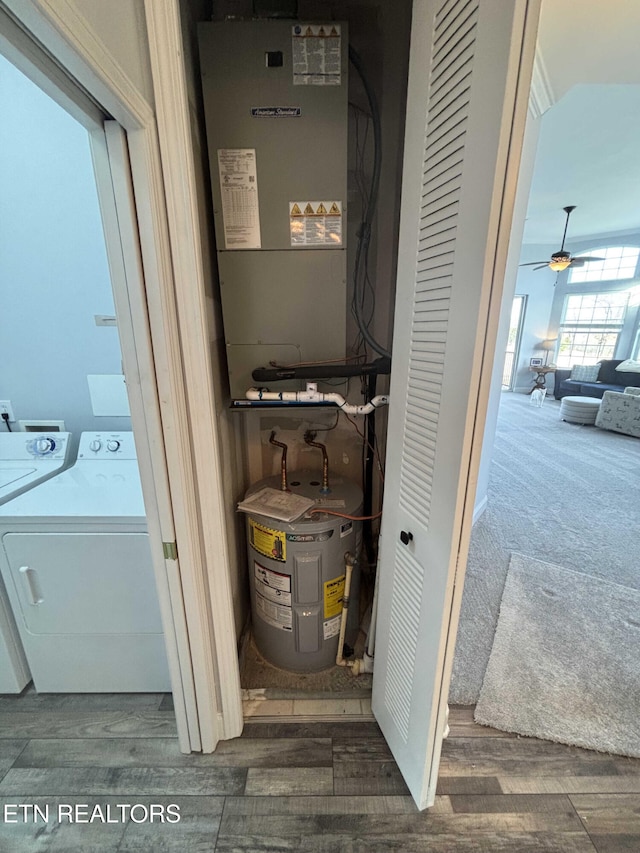
[{"label": "open white louvered closet door with small black knob", "polygon": [[538,13],[414,3],[373,709],[420,808],[446,723]]}]

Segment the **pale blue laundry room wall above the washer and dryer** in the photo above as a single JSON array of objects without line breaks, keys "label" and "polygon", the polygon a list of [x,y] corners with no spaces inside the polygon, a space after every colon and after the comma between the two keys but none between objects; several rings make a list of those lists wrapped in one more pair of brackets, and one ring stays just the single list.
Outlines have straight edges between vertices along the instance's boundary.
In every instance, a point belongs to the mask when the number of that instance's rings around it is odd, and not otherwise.
[{"label": "pale blue laundry room wall above the washer and dryer", "polygon": [[87,374],[122,372],[87,131],[0,57],[3,282],[0,398],[17,419],[83,430],[130,429],[96,418]]}]

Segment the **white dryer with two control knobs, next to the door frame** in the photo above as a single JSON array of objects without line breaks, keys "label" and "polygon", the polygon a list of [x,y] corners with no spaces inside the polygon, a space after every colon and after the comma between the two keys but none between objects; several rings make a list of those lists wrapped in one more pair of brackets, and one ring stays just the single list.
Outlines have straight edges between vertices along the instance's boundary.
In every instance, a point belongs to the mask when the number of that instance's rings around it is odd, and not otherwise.
[{"label": "white dryer with two control knobs, next to the door frame", "polygon": [[36,690],[169,691],[133,434],[0,506],[0,570]]}]

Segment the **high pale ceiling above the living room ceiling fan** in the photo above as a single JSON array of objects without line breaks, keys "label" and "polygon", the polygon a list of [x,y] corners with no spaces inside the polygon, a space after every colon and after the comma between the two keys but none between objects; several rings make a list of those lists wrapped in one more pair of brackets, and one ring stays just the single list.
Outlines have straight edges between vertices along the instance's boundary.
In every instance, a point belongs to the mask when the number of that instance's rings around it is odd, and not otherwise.
[{"label": "high pale ceiling above the living room ceiling fan", "polygon": [[[640,3],[543,0],[537,62],[552,105],[540,135],[523,242],[560,248],[640,231]],[[556,245],[557,244],[557,245]]]}]

